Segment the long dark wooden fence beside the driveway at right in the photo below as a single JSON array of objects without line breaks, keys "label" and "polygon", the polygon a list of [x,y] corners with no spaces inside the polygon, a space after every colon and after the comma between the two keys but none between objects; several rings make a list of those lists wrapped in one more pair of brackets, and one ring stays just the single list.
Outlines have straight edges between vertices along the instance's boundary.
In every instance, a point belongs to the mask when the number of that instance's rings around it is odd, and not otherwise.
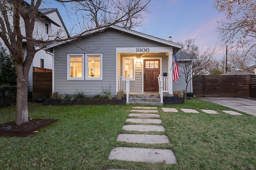
[{"label": "long dark wooden fence beside the driveway at right", "polygon": [[194,76],[193,92],[198,97],[255,98],[256,76]]}]

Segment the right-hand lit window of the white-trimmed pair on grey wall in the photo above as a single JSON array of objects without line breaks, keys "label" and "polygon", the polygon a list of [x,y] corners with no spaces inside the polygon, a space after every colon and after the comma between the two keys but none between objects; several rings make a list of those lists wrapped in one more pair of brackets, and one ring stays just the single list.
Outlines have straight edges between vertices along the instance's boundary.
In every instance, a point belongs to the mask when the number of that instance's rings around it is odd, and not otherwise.
[{"label": "right-hand lit window of the white-trimmed pair on grey wall", "polygon": [[102,54],[87,54],[86,70],[86,80],[102,80]]}]

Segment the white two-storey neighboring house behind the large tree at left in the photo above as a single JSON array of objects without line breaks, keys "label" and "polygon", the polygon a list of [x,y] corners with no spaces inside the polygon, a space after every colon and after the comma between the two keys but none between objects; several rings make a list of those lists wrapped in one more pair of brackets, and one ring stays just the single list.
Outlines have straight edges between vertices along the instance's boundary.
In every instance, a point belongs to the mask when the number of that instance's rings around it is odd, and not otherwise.
[{"label": "white two-storey neighboring house behind the large tree at left", "polygon": [[[25,1],[23,2],[26,6],[30,6]],[[11,3],[9,5],[12,6]],[[24,20],[22,17],[20,17],[20,25],[23,25],[22,23],[24,23]],[[21,27],[21,33],[25,35],[25,27]],[[35,22],[33,33],[34,38],[43,38],[44,40],[55,39],[57,36],[61,38],[67,38],[70,36],[56,8],[38,10],[38,16]],[[0,39],[0,42],[2,45],[4,45],[2,39]],[[26,57],[26,40],[23,42],[23,51],[24,57]],[[29,72],[28,91],[33,90],[33,67],[52,69],[52,54],[46,53],[44,50],[40,50],[35,54]]]}]

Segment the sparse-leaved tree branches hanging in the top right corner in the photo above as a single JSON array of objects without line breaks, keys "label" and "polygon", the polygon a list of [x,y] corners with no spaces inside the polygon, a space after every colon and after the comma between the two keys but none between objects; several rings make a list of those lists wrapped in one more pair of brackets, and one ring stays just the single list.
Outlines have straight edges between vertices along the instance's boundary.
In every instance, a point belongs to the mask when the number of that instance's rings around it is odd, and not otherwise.
[{"label": "sparse-leaved tree branches hanging in the top right corner", "polygon": [[248,51],[256,47],[256,1],[255,0],[216,0],[214,7],[224,14],[226,20],[217,28],[222,42],[231,44],[236,50]]}]

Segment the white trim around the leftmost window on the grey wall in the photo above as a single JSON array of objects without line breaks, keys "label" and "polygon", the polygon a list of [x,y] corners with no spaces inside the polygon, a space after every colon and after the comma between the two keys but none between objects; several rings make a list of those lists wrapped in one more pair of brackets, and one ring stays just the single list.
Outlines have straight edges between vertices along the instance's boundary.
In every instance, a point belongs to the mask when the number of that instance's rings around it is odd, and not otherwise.
[{"label": "white trim around the leftmost window on the grey wall", "polygon": [[[70,77],[71,56],[82,56],[82,77]],[[84,80],[84,54],[67,54],[67,80]]]}]

